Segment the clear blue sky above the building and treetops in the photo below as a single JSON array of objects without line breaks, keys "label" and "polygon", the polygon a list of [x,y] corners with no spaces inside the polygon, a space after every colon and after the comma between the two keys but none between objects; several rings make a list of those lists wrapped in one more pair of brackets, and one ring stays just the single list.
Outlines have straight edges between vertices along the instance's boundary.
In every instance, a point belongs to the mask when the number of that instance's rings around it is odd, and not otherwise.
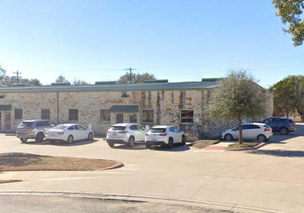
[{"label": "clear blue sky above the building and treetops", "polygon": [[0,0],[0,64],[8,75],[94,83],[137,68],[170,82],[251,69],[267,87],[303,74],[272,1]]}]

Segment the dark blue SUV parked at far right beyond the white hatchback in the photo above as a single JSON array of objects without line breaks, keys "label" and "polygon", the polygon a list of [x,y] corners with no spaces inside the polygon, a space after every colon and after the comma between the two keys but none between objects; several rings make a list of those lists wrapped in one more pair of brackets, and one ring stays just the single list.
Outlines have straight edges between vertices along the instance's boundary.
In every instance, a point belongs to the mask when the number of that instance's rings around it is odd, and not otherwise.
[{"label": "dark blue SUV parked at far right beyond the white hatchback", "polygon": [[263,123],[270,126],[273,132],[280,132],[283,135],[296,131],[295,122],[290,118],[272,117],[263,120]]}]

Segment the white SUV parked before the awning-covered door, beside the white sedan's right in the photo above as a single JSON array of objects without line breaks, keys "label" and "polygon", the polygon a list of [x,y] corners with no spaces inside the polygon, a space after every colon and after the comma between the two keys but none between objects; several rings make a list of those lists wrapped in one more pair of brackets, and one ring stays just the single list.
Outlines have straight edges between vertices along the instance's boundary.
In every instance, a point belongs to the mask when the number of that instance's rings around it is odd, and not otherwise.
[{"label": "white SUV parked before the awning-covered door, beside the white sedan's right", "polygon": [[115,144],[126,144],[133,147],[134,143],[144,142],[145,129],[137,124],[115,124],[106,133],[109,147]]}]

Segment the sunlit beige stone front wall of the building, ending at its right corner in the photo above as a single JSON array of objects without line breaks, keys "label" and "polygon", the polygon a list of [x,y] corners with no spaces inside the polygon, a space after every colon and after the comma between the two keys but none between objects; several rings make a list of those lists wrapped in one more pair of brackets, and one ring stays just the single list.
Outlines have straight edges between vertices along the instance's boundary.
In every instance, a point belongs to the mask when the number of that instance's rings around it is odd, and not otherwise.
[{"label": "sunlit beige stone front wall of the building, ending at its right corner", "polygon": [[[79,110],[79,124],[92,124],[96,134],[104,134],[116,122],[115,113],[111,113],[110,122],[100,121],[100,110],[109,109],[112,105],[138,105],[137,123],[140,125],[175,125],[186,132],[188,139],[198,139],[198,125],[201,125],[201,90],[174,91],[126,91],[129,95],[122,98],[124,92],[60,92],[59,93],[59,122],[68,121],[68,110]],[[14,109],[23,109],[22,120],[40,119],[41,109],[50,109],[51,120],[57,122],[56,92],[36,93],[7,93],[0,99],[0,104],[12,104],[12,128],[21,120],[14,119]],[[154,124],[141,122],[143,109],[154,110]],[[194,110],[192,125],[180,124],[180,110]],[[128,121],[128,114],[124,114],[124,121]],[[75,122],[73,122],[75,123]]]}]

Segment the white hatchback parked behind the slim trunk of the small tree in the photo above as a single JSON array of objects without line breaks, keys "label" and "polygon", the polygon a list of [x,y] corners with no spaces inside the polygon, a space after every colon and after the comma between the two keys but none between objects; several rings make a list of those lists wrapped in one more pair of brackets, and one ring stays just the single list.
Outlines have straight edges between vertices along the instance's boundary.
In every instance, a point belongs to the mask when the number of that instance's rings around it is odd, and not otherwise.
[{"label": "white hatchback parked behind the slim trunk of the small tree", "polygon": [[[267,124],[247,123],[242,124],[242,128],[243,139],[257,139],[264,142],[273,136],[272,128]],[[239,139],[239,126],[222,132],[220,137],[225,140]]]}]

